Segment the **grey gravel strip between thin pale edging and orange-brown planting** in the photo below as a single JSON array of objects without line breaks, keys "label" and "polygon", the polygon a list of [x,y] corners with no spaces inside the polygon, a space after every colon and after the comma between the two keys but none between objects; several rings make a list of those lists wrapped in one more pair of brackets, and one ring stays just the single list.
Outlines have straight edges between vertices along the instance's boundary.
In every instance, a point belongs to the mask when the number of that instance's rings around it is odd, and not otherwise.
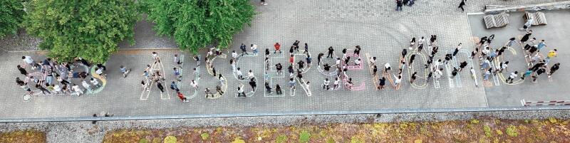
[{"label": "grey gravel strip between thin pale edging and orange-brown planting", "polygon": [[[125,120],[97,122],[30,122],[3,123],[0,132],[20,129],[38,129],[47,132],[48,142],[102,142],[105,132],[113,129],[167,129],[176,127],[213,126],[287,126],[301,124],[358,123],[358,122],[437,122],[496,118],[507,120],[544,120],[548,117],[570,119],[570,110],[533,110],[509,112],[440,112],[368,115],[303,115],[272,117],[217,117],[180,120]],[[75,135],[70,135],[75,134]]]}]

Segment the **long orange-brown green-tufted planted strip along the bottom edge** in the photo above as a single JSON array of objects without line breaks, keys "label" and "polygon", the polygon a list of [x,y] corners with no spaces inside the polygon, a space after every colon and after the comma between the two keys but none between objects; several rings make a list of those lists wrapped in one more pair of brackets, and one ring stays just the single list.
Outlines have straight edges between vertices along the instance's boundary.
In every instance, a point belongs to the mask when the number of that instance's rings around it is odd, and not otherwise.
[{"label": "long orange-brown green-tufted planted strip along the bottom edge", "polygon": [[[570,120],[480,119],[445,122],[118,129],[104,142],[570,142]],[[167,139],[167,140],[168,140]]]}]

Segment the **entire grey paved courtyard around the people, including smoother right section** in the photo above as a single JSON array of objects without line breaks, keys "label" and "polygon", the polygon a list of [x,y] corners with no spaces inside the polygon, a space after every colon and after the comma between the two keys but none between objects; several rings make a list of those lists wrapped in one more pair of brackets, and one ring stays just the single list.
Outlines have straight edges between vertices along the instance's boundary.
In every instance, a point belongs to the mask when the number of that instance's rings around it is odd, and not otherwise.
[{"label": "entire grey paved courtyard around the people, including smoother right section", "polygon": [[[561,88],[561,83],[568,77],[561,80],[554,79],[549,82],[544,76],[539,79],[539,83],[522,83],[521,85],[501,85],[484,87],[482,78],[472,79],[469,70],[462,71],[455,78],[444,76],[439,83],[432,80],[427,83],[423,78],[418,78],[414,85],[410,85],[411,73],[418,72],[424,75],[423,64],[427,57],[427,51],[416,55],[413,68],[403,70],[403,83],[397,90],[392,85],[386,86],[385,90],[375,89],[375,80],[371,75],[371,69],[366,59],[366,55],[377,57],[376,65],[380,72],[383,72],[383,65],[390,63],[393,69],[389,75],[397,75],[400,51],[408,48],[410,38],[415,36],[420,38],[430,35],[437,35],[437,46],[440,50],[435,56],[443,58],[446,53],[451,53],[458,43],[463,43],[463,50],[457,55],[457,61],[469,62],[467,67],[478,69],[479,62],[467,57],[474,49],[473,36],[485,36],[495,33],[497,38],[494,44],[506,42],[509,36],[522,35],[517,31],[517,26],[522,25],[522,21],[515,21],[511,18],[512,24],[500,30],[486,31],[482,29],[482,23],[478,23],[480,16],[467,16],[455,9],[456,1],[418,1],[415,6],[404,7],[403,12],[393,11],[392,1],[269,1],[268,6],[258,6],[259,15],[252,22],[251,27],[245,28],[242,33],[234,36],[232,50],[239,51],[239,45],[245,43],[257,44],[260,53],[257,56],[244,56],[239,58],[237,67],[242,68],[244,75],[247,70],[252,70],[257,77],[258,90],[248,93],[248,97],[236,97],[237,87],[244,85],[246,92],[252,91],[247,81],[239,81],[234,78],[232,67],[229,65],[231,54],[224,50],[222,56],[215,58],[213,65],[217,73],[226,78],[222,87],[225,92],[221,97],[207,99],[204,97],[204,88],[209,88],[215,93],[215,87],[219,83],[205,67],[204,60],[197,67],[196,61],[188,53],[183,53],[175,48],[175,44],[168,38],[154,36],[150,30],[152,24],[144,21],[139,22],[135,27],[134,46],[127,46],[122,43],[123,50],[111,55],[107,63],[108,73],[106,85],[103,90],[95,94],[77,96],[68,95],[33,95],[31,100],[24,102],[22,95],[24,90],[13,83],[15,77],[24,78],[19,74],[16,65],[22,64],[22,55],[31,55],[35,60],[43,60],[43,53],[37,52],[9,52],[1,53],[0,67],[6,69],[0,74],[0,80],[4,82],[2,90],[4,99],[0,107],[5,110],[0,111],[1,118],[17,117],[87,117],[101,111],[110,112],[116,116],[137,116],[137,115],[180,115],[180,114],[230,114],[230,113],[259,113],[259,112],[313,112],[313,111],[356,111],[356,110],[388,110],[388,109],[425,109],[425,108],[457,108],[457,107],[502,107],[519,106],[522,98],[529,100],[565,100],[563,95],[556,93],[566,92]],[[530,4],[537,4],[548,1],[527,1]],[[257,2],[256,2],[257,3]],[[447,4],[450,3],[450,4]],[[457,1],[458,4],[458,1]],[[512,1],[488,1],[485,4],[512,4]],[[481,4],[469,4],[467,11],[480,12]],[[566,16],[568,11],[556,11],[555,14],[547,16]],[[516,16],[517,14],[512,14]],[[519,18],[519,17],[518,17]],[[547,17],[548,18],[548,17]],[[563,20],[554,20],[547,26],[533,27],[536,29],[537,38],[548,33],[549,27],[562,28]],[[566,21],[567,22],[567,21]],[[507,30],[510,29],[510,30]],[[568,29],[556,32],[557,35],[544,36],[547,39],[549,48],[561,47],[568,43],[559,42],[558,37],[567,37]],[[473,32],[472,32],[473,31]],[[503,35],[504,34],[504,35]],[[533,35],[535,36],[535,35]],[[510,38],[510,37],[509,37]],[[309,44],[309,53],[313,57],[311,68],[305,68],[304,81],[311,81],[312,95],[307,94],[307,89],[297,82],[296,90],[289,90],[287,86],[289,46],[296,41]],[[150,41],[150,42],[149,42]],[[270,48],[273,53],[273,44],[281,43],[284,56],[279,54],[270,55],[271,65],[282,63],[285,75],[278,75],[275,71],[264,78],[264,50]],[[326,48],[333,46],[336,55],[341,56],[341,50],[348,48],[349,51],[355,46],[361,46],[361,58],[363,67],[348,70],[347,75],[353,79],[355,88],[341,88],[339,90],[323,90],[321,84],[325,78],[329,78],[331,85],[334,80],[333,75],[324,75],[316,66],[316,56],[318,53],[325,53]],[[300,46],[301,49],[303,46]],[[137,48],[137,49],[128,49]],[[141,48],[141,49],[139,49]],[[147,49],[145,49],[147,48]],[[163,49],[148,49],[163,48]],[[429,50],[427,47],[424,49]],[[520,51],[520,49],[517,49]],[[162,70],[165,75],[165,92],[160,93],[155,85],[150,91],[142,90],[140,81],[145,80],[142,71],[146,65],[153,63],[150,56],[152,51],[156,51],[162,58],[162,63],[156,65],[157,70]],[[249,50],[248,50],[249,51]],[[251,53],[251,51],[249,51]],[[411,52],[410,52],[411,53]],[[181,102],[174,91],[170,90],[170,82],[175,80],[172,68],[177,65],[172,63],[174,54],[184,55],[182,64],[183,80],[179,83],[179,88],[185,96],[190,98],[190,102]],[[201,52],[202,57],[205,51]],[[518,56],[518,58],[517,58]],[[522,55],[506,55],[513,59],[512,68],[517,67],[520,62],[524,62]],[[296,54],[296,61],[304,60],[306,56]],[[561,51],[559,57],[553,62],[568,61],[567,51]],[[354,58],[351,58],[354,59]],[[517,62],[514,62],[517,60]],[[333,64],[335,61],[323,60],[324,63]],[[120,65],[132,68],[130,75],[123,78],[120,74]],[[519,64],[520,65],[520,64]],[[522,67],[522,66],[521,66]],[[196,90],[190,86],[191,79],[197,79],[192,68],[199,69],[199,88]],[[444,68],[444,75],[450,74],[450,67]],[[29,69],[28,69],[29,70]],[[519,70],[520,71],[520,70]],[[565,73],[564,63],[558,75],[553,77],[563,77]],[[477,70],[480,74],[481,71]],[[480,75],[478,75],[480,77]],[[281,85],[284,95],[268,94],[264,92],[264,81],[271,82],[271,87],[275,84]],[[480,86],[476,87],[475,82]],[[341,83],[341,85],[343,85]],[[539,88],[541,90],[532,90]],[[531,91],[532,90],[532,91]],[[515,92],[511,92],[515,91]],[[525,92],[526,91],[526,92]],[[548,95],[536,97],[540,92],[549,92]]]}]

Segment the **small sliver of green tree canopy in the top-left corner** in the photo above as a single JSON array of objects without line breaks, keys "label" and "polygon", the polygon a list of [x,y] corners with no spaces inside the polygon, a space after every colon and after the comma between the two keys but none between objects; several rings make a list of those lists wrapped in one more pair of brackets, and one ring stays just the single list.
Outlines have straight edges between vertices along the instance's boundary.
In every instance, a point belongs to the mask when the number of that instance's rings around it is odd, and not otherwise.
[{"label": "small sliver of green tree canopy in the top-left corner", "polygon": [[0,38],[18,31],[22,17],[26,14],[19,0],[0,1]]}]

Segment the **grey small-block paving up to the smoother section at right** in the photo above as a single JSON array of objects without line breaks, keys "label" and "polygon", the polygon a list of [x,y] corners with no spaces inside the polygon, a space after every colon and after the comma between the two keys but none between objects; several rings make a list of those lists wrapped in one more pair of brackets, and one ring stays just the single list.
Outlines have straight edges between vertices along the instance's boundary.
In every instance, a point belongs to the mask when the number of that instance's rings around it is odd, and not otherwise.
[{"label": "grey small-block paving up to the smoother section at right", "polygon": [[[13,83],[14,77],[21,77],[15,66],[22,62],[20,59],[22,55],[33,55],[36,60],[43,59],[41,58],[43,55],[3,53],[0,60],[4,60],[4,62],[0,63],[0,67],[6,69],[6,72],[0,74],[0,79],[8,82],[3,83],[5,100],[0,107],[6,110],[0,111],[0,117],[86,117],[101,111],[111,112],[116,116],[136,116],[487,107],[484,88],[476,88],[472,85],[473,80],[466,70],[460,73],[462,88],[450,88],[447,78],[440,80],[441,88],[438,89],[434,88],[432,82],[425,89],[411,88],[407,82],[409,78],[406,78],[410,73],[405,70],[405,78],[403,78],[403,85],[400,90],[394,90],[387,86],[386,90],[379,91],[373,87],[373,79],[371,79],[372,76],[366,64],[367,60],[363,59],[365,61],[363,70],[349,70],[348,75],[356,83],[365,83],[365,90],[325,91],[320,88],[322,80],[327,77],[316,70],[316,55],[326,53],[328,46],[333,46],[336,55],[340,56],[342,48],[350,49],[359,45],[363,48],[361,51],[363,57],[365,53],[369,53],[378,58],[378,65],[389,62],[393,68],[398,65],[400,51],[408,47],[411,36],[428,38],[430,34],[436,34],[437,43],[440,46],[440,52],[437,53],[436,58],[442,58],[446,52],[452,52],[457,43],[464,43],[465,50],[472,51],[473,43],[467,16],[460,13],[458,9],[452,9],[455,6],[447,3],[452,2],[417,1],[416,5],[411,8],[414,10],[408,12],[407,10],[410,8],[405,7],[403,13],[393,11],[393,4],[386,1],[269,1],[268,6],[258,6],[257,11],[260,13],[254,18],[252,26],[234,36],[234,43],[232,44],[232,49],[237,51],[239,51],[241,43],[257,44],[260,50],[259,56],[244,57],[239,61],[239,66],[243,68],[244,75],[247,70],[252,69],[259,79],[257,92],[252,97],[245,98],[235,97],[237,86],[242,83],[245,85],[246,91],[251,91],[251,88],[246,82],[239,82],[232,77],[232,68],[228,62],[228,56],[225,59],[217,58],[213,62],[218,73],[222,73],[227,78],[229,85],[226,94],[222,97],[214,100],[204,98],[204,88],[213,90],[219,82],[206,72],[205,63],[202,59],[199,89],[197,96],[190,98],[190,102],[181,102],[177,99],[175,92],[170,89],[170,96],[168,96],[170,99],[164,99],[168,93],[162,93],[161,97],[155,86],[152,86],[147,100],[140,100],[143,93],[140,86],[140,81],[143,78],[140,75],[145,66],[153,62],[150,56],[152,50],[128,50],[120,51],[110,57],[106,71],[108,73],[108,85],[102,92],[81,97],[33,96],[30,102],[24,102],[21,100],[24,91]],[[492,1],[489,3],[499,2]],[[472,9],[476,8],[470,7],[468,10],[475,11]],[[135,34],[151,36],[147,33],[141,33],[139,30]],[[147,39],[144,38],[145,36],[139,36],[135,36],[137,38],[135,40]],[[263,51],[265,48],[272,48],[275,42],[279,42],[287,54],[289,46],[295,40],[301,41],[301,45],[309,43],[309,51],[314,57],[314,67],[304,73],[304,80],[311,81],[313,94],[309,97],[299,87],[295,96],[291,97],[286,81],[277,80],[275,83],[279,83],[284,89],[284,97],[264,97],[264,84],[261,82],[263,81],[261,77],[263,77],[264,68]],[[162,44],[160,41],[148,44],[144,44],[144,42],[138,42],[135,46],[150,48]],[[196,67],[195,61],[187,53],[180,51],[156,51],[160,53],[164,66],[165,88],[169,88],[170,82],[173,80],[172,68],[175,67],[175,64],[172,63],[172,55],[177,53],[186,56],[182,72],[184,80],[181,83],[181,91],[187,97],[193,95],[195,89],[190,87],[190,79],[193,78],[192,68]],[[230,55],[229,53],[226,54]],[[298,56],[298,58],[302,57]],[[458,56],[458,58],[467,60],[467,57]],[[283,63],[284,68],[287,65],[286,58],[282,60],[274,58],[272,62]],[[333,60],[326,60],[325,62],[333,63]],[[422,66],[420,62],[423,61],[415,60],[415,69],[421,70],[418,68]],[[126,65],[133,69],[127,78],[123,78],[120,74],[118,69],[120,65]],[[391,74],[397,73],[393,71]],[[444,74],[447,73],[444,72]],[[452,81],[455,82],[455,80]],[[419,79],[417,82],[423,81]]]}]

